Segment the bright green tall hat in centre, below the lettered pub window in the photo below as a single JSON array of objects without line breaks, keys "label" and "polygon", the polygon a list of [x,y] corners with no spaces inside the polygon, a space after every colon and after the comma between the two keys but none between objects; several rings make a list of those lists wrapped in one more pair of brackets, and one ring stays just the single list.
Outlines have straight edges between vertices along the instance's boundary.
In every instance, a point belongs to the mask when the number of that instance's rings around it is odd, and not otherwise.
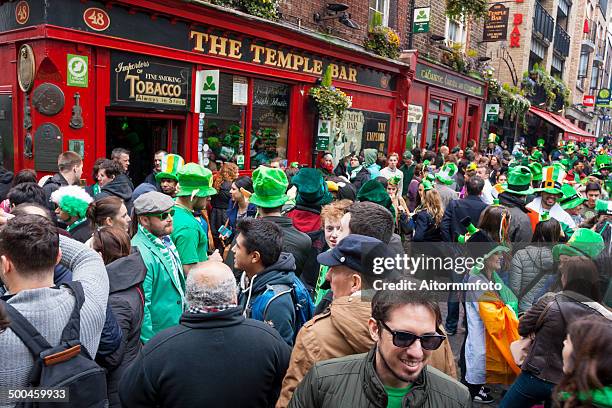
[{"label": "bright green tall hat in centre, below the lettered pub window", "polygon": [[289,181],[282,169],[259,166],[253,172],[253,194],[249,201],[258,207],[276,208],[289,200]]}]

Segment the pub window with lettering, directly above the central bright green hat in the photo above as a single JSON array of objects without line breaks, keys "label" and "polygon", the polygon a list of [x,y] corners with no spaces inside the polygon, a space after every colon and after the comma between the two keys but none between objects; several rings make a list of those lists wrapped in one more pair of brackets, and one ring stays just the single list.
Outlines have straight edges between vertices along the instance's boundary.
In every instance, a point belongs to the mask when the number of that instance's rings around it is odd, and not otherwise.
[{"label": "pub window with lettering, directly above the central bright green hat", "polygon": [[253,81],[251,168],[272,159],[287,159],[290,87],[280,82]]}]

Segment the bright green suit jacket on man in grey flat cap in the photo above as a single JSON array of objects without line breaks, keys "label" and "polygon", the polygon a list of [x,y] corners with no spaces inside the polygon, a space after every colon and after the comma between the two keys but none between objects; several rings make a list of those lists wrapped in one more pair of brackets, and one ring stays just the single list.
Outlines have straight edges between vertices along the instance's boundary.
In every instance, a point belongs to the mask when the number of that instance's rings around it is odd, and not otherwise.
[{"label": "bright green suit jacket on man in grey flat cap", "polygon": [[182,270],[179,271],[179,282],[176,282],[172,265],[142,233],[134,235],[132,245],[138,247],[147,267],[142,282],[145,303],[140,332],[140,340],[146,343],[160,331],[178,324],[183,314],[183,300],[178,288],[180,285],[185,293],[185,276]]}]

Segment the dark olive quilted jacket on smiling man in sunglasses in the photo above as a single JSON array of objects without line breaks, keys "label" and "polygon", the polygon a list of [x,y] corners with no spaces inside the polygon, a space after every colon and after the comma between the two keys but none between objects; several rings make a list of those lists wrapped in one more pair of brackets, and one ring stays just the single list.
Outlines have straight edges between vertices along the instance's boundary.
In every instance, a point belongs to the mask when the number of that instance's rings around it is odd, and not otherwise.
[{"label": "dark olive quilted jacket on smiling man in sunglasses", "polygon": [[[374,369],[376,348],[367,354],[322,361],[306,374],[289,408],[386,408],[387,393]],[[410,408],[471,407],[467,388],[427,366],[402,404]]]}]

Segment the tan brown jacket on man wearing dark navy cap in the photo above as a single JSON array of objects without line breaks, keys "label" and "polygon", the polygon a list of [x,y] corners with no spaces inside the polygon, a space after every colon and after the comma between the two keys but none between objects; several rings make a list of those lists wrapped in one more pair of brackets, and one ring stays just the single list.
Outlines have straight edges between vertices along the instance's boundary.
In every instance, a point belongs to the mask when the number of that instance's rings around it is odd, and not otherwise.
[{"label": "tan brown jacket on man wearing dark navy cap", "polygon": [[[295,340],[287,375],[276,408],[289,404],[291,396],[308,371],[319,361],[366,353],[374,345],[368,329],[372,305],[362,295],[334,299],[322,314],[306,323]],[[429,364],[451,377],[457,376],[448,340],[432,352]]]}]

